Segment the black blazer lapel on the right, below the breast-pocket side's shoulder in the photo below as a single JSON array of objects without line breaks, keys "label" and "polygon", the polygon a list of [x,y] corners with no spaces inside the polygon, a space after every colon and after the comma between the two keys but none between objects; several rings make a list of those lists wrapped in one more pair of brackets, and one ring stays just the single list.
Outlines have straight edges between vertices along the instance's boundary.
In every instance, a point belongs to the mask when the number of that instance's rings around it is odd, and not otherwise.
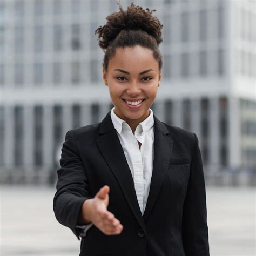
[{"label": "black blazer lapel on the right, below the breast-pocket side's shoulder", "polygon": [[146,208],[143,214],[144,221],[152,210],[152,207],[158,197],[161,186],[168,169],[172,149],[173,140],[168,136],[169,131],[166,126],[154,116],[154,160],[153,171],[150,184],[149,197],[147,198]]}]

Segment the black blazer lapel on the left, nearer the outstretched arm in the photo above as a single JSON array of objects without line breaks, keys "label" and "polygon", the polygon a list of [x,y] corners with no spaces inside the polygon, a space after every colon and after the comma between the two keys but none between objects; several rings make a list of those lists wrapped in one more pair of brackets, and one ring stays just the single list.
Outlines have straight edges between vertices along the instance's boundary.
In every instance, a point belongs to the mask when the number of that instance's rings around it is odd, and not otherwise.
[{"label": "black blazer lapel on the left, nearer the outstretched arm", "polygon": [[100,136],[97,139],[99,150],[102,152],[106,163],[116,177],[120,188],[124,193],[127,203],[131,207],[138,223],[145,230],[145,223],[140,212],[136,191],[132,179],[131,170],[127,164],[122,145],[120,144],[117,132],[114,129],[110,112],[107,113],[100,126]]}]

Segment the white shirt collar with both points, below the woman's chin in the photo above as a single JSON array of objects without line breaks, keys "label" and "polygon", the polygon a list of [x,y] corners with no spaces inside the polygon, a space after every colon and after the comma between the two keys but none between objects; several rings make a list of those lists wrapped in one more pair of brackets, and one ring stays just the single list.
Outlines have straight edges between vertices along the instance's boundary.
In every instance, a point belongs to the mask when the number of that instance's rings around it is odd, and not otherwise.
[{"label": "white shirt collar with both points, below the woman's chin", "polygon": [[[142,131],[142,133],[149,131],[149,129],[154,125],[153,111],[152,109],[149,109],[149,110],[150,110],[150,115],[145,120],[143,120],[143,122],[140,122],[138,125],[142,128],[142,129],[139,129]],[[114,107],[111,109],[110,115],[111,115],[111,120],[112,120],[114,129],[116,129],[117,132],[120,134],[122,132],[122,128],[126,125],[128,126],[128,124],[125,122],[125,120],[121,119],[120,117],[117,116],[116,113],[114,113]]]}]

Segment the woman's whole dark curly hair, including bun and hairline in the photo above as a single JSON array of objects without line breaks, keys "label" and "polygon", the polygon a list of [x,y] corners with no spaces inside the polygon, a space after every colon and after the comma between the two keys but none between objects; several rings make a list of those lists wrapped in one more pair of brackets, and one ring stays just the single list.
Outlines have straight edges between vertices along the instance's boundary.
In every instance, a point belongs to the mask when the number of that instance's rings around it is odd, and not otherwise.
[{"label": "woman's whole dark curly hair, including bun and hairline", "polygon": [[136,6],[132,2],[124,11],[120,2],[119,11],[107,16],[107,23],[95,30],[98,34],[98,44],[105,52],[103,68],[107,70],[109,60],[116,53],[117,48],[126,48],[140,45],[152,50],[154,58],[159,63],[159,69],[163,65],[163,56],[158,48],[163,42],[161,29],[163,25],[157,17],[152,15],[154,10]]}]

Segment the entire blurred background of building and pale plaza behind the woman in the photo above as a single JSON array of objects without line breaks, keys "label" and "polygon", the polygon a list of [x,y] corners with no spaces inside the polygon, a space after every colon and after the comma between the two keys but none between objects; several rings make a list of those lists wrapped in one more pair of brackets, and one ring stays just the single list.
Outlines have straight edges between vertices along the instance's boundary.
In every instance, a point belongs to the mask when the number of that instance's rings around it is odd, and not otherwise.
[{"label": "entire blurred background of building and pale plaza behind the woman", "polygon": [[[152,110],[199,138],[211,255],[255,255],[256,1],[134,3],[164,24]],[[1,255],[79,254],[53,215],[56,170],[66,132],[112,107],[95,30],[113,11],[115,0],[0,0]]]}]

